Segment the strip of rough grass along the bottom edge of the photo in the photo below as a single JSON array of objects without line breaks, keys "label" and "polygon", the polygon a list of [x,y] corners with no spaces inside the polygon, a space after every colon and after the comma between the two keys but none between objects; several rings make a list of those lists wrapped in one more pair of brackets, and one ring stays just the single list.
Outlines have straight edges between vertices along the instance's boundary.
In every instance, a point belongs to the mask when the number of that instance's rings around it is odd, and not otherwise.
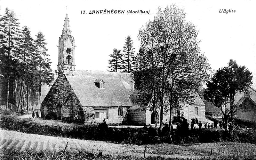
[{"label": "strip of rough grass along the bottom edge of the photo", "polygon": [[[217,154],[211,155],[211,160],[255,160],[256,156],[254,154],[255,148],[248,148],[248,146],[244,146],[243,144],[238,144],[237,147],[233,148],[234,145],[231,145],[232,148],[227,148],[226,151],[221,150],[221,145],[218,150]],[[241,150],[240,147],[245,147]],[[237,152],[239,148],[240,152]],[[196,149],[196,148],[195,148]],[[253,152],[251,151],[253,150]],[[184,153],[182,153],[184,155]],[[89,153],[86,151],[79,151],[79,152],[70,152],[70,151],[45,151],[45,150],[25,150],[25,151],[17,151],[17,150],[10,150],[10,149],[2,149],[0,150],[0,159],[1,160],[23,160],[23,159],[30,159],[30,160],[59,160],[59,159],[66,159],[66,160],[187,160],[187,159],[209,159],[210,155],[205,155],[202,157],[184,157],[180,154],[180,156],[176,157],[161,157],[161,156],[147,156],[147,157],[138,157],[138,156],[122,156],[121,154],[118,156],[111,156],[111,155],[103,155],[101,152]]]}]

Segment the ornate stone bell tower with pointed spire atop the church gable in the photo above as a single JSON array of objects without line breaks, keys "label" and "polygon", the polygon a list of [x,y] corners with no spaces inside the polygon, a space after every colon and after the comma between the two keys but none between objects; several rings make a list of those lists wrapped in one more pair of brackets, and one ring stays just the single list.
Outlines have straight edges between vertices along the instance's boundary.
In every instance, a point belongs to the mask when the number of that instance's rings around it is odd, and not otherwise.
[{"label": "ornate stone bell tower with pointed spire atop the church gable", "polygon": [[58,71],[67,75],[75,75],[75,38],[71,35],[68,14],[64,20],[64,27],[59,38]]}]

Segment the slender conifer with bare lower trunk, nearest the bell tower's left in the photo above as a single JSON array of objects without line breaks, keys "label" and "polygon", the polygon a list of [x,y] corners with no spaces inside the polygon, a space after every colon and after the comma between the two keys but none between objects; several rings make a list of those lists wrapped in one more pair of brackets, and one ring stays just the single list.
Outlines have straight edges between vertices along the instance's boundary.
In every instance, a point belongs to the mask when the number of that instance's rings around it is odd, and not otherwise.
[{"label": "slender conifer with bare lower trunk, nearest the bell tower's left", "polygon": [[39,56],[39,109],[41,111],[41,86],[42,84],[50,85],[52,82],[52,70],[50,64],[52,63],[48,59],[49,54],[47,54],[46,42],[44,35],[39,31],[36,35],[36,52]]}]

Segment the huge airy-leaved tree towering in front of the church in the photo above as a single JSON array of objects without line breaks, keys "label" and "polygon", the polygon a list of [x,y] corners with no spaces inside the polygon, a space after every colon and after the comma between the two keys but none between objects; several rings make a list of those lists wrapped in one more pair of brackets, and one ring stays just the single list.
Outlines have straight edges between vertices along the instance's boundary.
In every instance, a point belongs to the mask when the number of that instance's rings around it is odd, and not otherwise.
[{"label": "huge airy-leaved tree towering in front of the church", "polygon": [[[153,21],[148,21],[139,31],[141,49],[144,50],[145,63],[160,82],[152,88],[156,90],[160,108],[160,129],[162,129],[164,106],[169,103],[170,122],[174,106],[174,93],[177,89],[191,92],[207,79],[210,65],[200,53],[196,27],[185,21],[184,10],[175,5],[158,9]],[[150,52],[148,52],[150,51]],[[150,54],[147,54],[150,53]],[[161,71],[161,72],[159,72]],[[167,100],[167,98],[169,100]]]}]

